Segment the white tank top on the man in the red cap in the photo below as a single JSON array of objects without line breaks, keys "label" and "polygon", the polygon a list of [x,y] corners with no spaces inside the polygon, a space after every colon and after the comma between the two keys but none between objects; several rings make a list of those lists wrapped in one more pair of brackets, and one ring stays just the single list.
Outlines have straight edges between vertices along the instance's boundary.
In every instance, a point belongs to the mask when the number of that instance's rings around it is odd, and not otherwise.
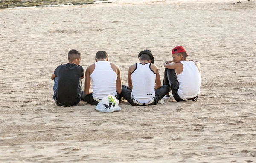
[{"label": "white tank top on the man in the red cap", "polygon": [[193,61],[181,61],[183,71],[177,75],[180,83],[178,94],[181,98],[193,98],[200,93],[201,73]]}]

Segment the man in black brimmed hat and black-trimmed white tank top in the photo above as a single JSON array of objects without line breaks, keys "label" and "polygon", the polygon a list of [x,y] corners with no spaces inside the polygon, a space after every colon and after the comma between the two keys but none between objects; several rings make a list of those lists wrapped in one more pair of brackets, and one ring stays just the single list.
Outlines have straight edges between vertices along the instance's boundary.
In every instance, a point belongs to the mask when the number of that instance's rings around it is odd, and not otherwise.
[{"label": "man in black brimmed hat and black-trimmed white tank top", "polygon": [[121,95],[132,106],[156,105],[165,94],[170,92],[167,85],[161,86],[158,68],[149,50],[139,53],[140,63],[135,63],[128,70],[128,87],[122,85]]}]

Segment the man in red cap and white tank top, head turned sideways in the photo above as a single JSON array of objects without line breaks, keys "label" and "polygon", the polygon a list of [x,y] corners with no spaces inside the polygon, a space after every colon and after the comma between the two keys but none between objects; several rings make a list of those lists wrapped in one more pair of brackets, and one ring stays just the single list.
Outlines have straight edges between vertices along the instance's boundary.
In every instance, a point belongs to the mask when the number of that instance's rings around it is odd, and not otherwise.
[{"label": "man in red cap and white tank top, head turned sideways", "polygon": [[163,84],[171,87],[176,101],[196,101],[200,93],[201,73],[199,62],[188,60],[182,46],[172,49],[172,61],[164,63]]}]

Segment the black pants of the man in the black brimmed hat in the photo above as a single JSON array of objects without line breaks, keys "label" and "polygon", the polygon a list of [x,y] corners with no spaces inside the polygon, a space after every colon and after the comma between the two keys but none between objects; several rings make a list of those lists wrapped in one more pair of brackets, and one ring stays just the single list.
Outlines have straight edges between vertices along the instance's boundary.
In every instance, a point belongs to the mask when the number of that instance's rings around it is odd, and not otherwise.
[{"label": "black pants of the man in the black brimmed hat", "polygon": [[[157,90],[155,90],[156,98],[153,103],[150,105],[156,105],[159,100],[161,100],[168,92],[170,92],[170,88],[167,85],[163,85]],[[132,106],[142,106],[138,105],[137,103],[134,103],[131,98],[131,89],[128,88],[128,86],[122,85],[122,92],[121,96],[125,98]]]}]

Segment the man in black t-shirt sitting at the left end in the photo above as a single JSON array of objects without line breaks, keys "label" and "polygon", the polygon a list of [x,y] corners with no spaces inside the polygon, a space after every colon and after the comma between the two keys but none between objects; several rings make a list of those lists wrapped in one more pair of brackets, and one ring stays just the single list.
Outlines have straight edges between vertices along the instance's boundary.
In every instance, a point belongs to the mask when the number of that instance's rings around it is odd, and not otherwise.
[{"label": "man in black t-shirt sitting at the left end", "polygon": [[53,99],[58,106],[76,106],[81,100],[82,79],[84,69],[79,66],[81,52],[70,50],[68,52],[68,63],[58,66],[52,74]]}]

